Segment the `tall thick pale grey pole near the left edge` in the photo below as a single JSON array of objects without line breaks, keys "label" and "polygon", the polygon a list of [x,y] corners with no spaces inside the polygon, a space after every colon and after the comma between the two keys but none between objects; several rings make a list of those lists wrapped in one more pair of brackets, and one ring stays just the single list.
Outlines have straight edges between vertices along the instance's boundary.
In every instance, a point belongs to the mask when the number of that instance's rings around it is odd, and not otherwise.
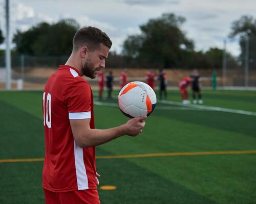
[{"label": "tall thick pale grey pole near the left edge", "polygon": [[11,89],[11,51],[9,42],[9,0],[6,0],[6,48],[5,48],[5,66],[6,66],[6,89]]}]

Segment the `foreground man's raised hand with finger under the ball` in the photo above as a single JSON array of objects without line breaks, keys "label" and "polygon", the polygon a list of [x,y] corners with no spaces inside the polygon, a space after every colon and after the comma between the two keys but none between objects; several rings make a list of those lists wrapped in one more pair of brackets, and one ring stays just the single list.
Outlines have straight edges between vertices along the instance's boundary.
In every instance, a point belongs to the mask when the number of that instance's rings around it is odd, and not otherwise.
[{"label": "foreground man's raised hand with finger under the ball", "polygon": [[132,118],[128,120],[125,124],[126,134],[130,136],[137,136],[142,132],[143,127],[145,126],[146,115]]}]

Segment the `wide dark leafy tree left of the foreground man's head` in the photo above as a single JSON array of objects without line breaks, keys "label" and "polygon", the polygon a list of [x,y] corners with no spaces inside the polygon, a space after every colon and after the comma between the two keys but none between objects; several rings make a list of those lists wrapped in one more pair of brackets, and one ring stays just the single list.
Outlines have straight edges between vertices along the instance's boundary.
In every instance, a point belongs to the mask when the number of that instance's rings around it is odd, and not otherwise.
[{"label": "wide dark leafy tree left of the foreground man's head", "polygon": [[72,39],[79,29],[73,19],[60,20],[49,24],[41,22],[28,31],[14,35],[13,42],[19,54],[32,56],[69,55],[72,51]]}]

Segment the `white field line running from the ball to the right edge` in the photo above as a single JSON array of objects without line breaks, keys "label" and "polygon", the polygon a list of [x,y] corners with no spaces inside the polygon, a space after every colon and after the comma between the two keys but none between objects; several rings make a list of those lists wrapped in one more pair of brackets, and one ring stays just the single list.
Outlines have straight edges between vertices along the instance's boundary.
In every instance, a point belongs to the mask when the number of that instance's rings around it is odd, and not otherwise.
[{"label": "white field line running from the ball to the right edge", "polygon": [[227,112],[227,113],[238,113],[238,114],[243,114],[243,115],[256,116],[256,112],[251,112],[251,111],[227,109],[227,108],[220,108],[220,107],[214,107],[214,106],[194,105],[194,104],[184,105],[181,102],[170,101],[170,100],[161,100],[160,102],[163,103],[163,104],[178,105],[178,106],[184,106],[184,107],[189,107],[189,108],[197,108],[197,109],[202,109],[202,110],[221,111],[221,112]]}]

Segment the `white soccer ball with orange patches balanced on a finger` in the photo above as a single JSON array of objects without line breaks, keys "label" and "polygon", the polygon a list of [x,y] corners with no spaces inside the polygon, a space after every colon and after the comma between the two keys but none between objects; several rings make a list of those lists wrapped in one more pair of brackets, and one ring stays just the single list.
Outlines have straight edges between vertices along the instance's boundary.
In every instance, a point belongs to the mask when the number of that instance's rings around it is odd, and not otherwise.
[{"label": "white soccer ball with orange patches balanced on a finger", "polygon": [[118,107],[127,117],[149,116],[156,108],[154,90],[143,82],[126,84],[118,95]]}]

